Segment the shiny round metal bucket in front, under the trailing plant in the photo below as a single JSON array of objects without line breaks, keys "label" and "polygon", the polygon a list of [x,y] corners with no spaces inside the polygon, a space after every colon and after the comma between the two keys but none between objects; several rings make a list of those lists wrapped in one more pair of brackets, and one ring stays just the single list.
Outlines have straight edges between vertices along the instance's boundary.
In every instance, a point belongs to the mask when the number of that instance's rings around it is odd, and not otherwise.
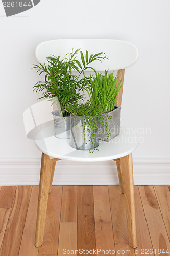
[{"label": "shiny round metal bucket in front, under the trailing plant", "polygon": [[98,129],[91,130],[90,127],[85,126],[84,122],[85,118],[72,114],[70,115],[69,144],[77,150],[92,150],[99,146]]}]

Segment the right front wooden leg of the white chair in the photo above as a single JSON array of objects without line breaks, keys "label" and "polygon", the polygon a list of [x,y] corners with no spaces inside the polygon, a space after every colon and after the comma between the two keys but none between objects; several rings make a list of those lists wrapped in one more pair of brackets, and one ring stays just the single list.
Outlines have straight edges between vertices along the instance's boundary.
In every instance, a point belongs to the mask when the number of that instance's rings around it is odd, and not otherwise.
[{"label": "right front wooden leg of the white chair", "polygon": [[129,246],[131,246],[132,248],[136,248],[137,242],[132,153],[125,157],[120,158],[120,168],[124,186]]}]

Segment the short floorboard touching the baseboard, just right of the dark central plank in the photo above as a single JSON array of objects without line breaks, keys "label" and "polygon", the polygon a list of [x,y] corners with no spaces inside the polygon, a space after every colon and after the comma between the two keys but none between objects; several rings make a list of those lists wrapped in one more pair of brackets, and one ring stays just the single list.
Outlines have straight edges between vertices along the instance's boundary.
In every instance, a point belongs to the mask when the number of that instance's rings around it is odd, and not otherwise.
[{"label": "short floorboard touching the baseboard, just right of the dark central plank", "polygon": [[95,222],[111,222],[108,186],[93,186]]}]

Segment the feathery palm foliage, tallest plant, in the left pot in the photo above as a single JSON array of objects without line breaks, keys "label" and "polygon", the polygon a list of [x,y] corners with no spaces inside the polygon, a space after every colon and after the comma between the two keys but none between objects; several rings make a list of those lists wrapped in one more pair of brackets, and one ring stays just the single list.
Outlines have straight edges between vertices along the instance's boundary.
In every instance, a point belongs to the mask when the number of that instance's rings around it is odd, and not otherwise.
[{"label": "feathery palm foliage, tallest plant, in the left pot", "polygon": [[[89,65],[95,60],[107,59],[103,52],[89,56],[88,51],[86,51],[84,56],[80,51],[80,63],[77,60],[79,50],[77,49],[74,52],[72,49],[72,52],[66,54],[63,59],[54,55],[46,57],[48,65],[42,65],[41,63],[33,65],[33,69],[36,69],[39,75],[45,73],[45,79],[38,81],[33,90],[36,93],[42,92],[43,96],[39,99],[56,97],[63,116],[69,115],[65,108],[68,103],[84,99],[81,93],[87,89],[89,82],[89,77],[85,77],[85,70],[92,69],[96,73],[95,69]],[[72,71],[77,71],[78,75],[72,74]],[[83,78],[80,78],[81,75],[83,75]],[[57,100],[54,100],[53,103]]]}]

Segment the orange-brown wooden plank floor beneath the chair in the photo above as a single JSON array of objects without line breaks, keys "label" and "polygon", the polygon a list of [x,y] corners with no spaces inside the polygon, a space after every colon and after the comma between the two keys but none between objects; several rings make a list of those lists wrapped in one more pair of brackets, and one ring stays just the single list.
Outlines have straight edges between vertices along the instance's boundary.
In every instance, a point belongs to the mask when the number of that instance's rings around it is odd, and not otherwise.
[{"label": "orange-brown wooden plank floor beneath the chair", "polygon": [[95,255],[96,248],[98,255],[108,255],[107,250],[112,255],[170,255],[168,186],[135,186],[135,253],[128,246],[124,195],[119,186],[53,186],[39,248],[34,247],[38,186],[0,189],[1,256],[56,256],[64,255],[63,249],[94,249]]}]

